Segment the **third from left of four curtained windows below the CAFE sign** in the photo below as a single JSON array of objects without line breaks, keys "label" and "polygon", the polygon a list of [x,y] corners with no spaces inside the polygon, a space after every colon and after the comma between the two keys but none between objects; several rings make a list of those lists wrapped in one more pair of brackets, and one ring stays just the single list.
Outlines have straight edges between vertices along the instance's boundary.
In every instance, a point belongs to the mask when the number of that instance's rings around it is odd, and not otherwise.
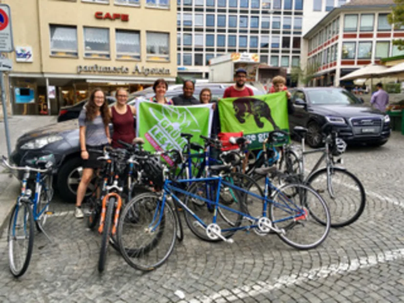
[{"label": "third from left of four curtained windows below the CAFE sign", "polygon": [[117,29],[115,43],[118,59],[140,60],[140,32]]}]

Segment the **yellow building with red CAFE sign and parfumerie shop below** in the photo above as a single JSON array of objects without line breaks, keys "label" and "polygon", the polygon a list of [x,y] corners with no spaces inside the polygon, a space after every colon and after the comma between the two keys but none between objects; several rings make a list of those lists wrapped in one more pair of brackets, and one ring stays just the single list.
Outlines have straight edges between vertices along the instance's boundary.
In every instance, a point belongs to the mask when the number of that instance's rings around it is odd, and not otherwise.
[{"label": "yellow building with red CAFE sign and parfumerie shop below", "polygon": [[168,0],[3,0],[15,52],[14,114],[56,114],[94,87],[142,89],[176,77],[176,3]]}]

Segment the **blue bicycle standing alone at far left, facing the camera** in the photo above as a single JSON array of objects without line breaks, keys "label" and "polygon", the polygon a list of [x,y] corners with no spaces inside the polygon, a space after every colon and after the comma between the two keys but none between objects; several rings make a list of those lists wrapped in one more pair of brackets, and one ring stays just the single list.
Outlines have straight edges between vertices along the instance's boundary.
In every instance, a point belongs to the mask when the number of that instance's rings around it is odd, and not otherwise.
[{"label": "blue bicycle standing alone at far left, facing the camera", "polygon": [[[35,158],[31,161],[33,167],[16,167],[7,162],[2,156],[2,163],[12,171],[23,171],[21,194],[17,198],[10,223],[8,225],[8,256],[10,271],[15,277],[21,277],[28,269],[34,246],[34,225],[46,238],[50,238],[43,230],[49,203],[53,197],[52,176],[55,157],[53,154]],[[30,180],[35,173],[35,182]],[[34,191],[34,195],[33,195]]]}]

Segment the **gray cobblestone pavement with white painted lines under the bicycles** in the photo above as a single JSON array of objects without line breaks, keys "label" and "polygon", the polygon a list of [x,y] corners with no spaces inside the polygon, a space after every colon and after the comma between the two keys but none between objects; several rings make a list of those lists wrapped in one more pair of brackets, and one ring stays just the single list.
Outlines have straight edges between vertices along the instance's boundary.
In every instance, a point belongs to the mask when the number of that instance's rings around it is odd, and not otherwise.
[{"label": "gray cobblestone pavement with white painted lines under the bicycles", "polygon": [[[36,234],[26,274],[8,271],[0,238],[1,302],[403,302],[404,136],[381,148],[351,148],[344,166],[362,181],[367,204],[354,224],[331,230],[316,249],[298,251],[274,235],[240,232],[234,244],[207,243],[187,229],[170,259],[153,272],[129,267],[110,247],[99,275],[101,237],[55,201],[57,216]],[[313,159],[316,156],[311,156]],[[184,293],[180,299],[177,290]]]}]

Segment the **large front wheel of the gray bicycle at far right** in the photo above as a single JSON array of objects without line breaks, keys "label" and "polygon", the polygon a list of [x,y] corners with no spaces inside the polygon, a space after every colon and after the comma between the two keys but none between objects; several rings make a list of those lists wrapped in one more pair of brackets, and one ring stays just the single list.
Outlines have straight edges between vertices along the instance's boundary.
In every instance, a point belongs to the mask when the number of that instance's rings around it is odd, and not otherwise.
[{"label": "large front wheel of the gray bicycle at far right", "polygon": [[[311,175],[307,184],[314,188],[325,200],[330,209],[331,227],[342,227],[355,222],[365,208],[365,191],[361,181],[344,169],[330,170],[330,183],[327,185],[327,169]],[[315,216],[315,214],[313,214]],[[318,218],[319,222],[325,222]]]}]

